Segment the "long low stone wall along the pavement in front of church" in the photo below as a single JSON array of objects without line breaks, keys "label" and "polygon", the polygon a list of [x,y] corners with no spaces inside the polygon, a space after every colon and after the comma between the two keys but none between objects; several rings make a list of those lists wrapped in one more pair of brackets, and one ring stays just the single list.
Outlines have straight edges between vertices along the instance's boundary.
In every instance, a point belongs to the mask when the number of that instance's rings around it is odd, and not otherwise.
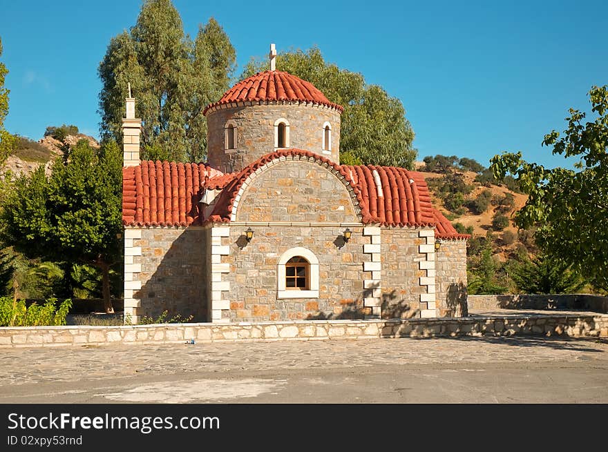
[{"label": "long low stone wall along the pavement in front of church", "polygon": [[608,315],[518,315],[410,320],[0,328],[0,348],[378,337],[562,335],[608,337]]}]

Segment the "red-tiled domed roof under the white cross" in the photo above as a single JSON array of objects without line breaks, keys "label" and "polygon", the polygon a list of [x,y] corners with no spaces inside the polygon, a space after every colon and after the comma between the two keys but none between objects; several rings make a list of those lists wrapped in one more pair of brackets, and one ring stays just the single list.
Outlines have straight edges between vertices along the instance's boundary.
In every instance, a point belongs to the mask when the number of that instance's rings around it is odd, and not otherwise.
[{"label": "red-tiled domed roof under the white cross", "polygon": [[267,70],[239,81],[224,93],[222,99],[208,105],[202,113],[206,115],[210,108],[222,104],[245,101],[301,101],[335,108],[339,112],[344,109],[330,102],[310,81],[305,81],[289,72]]}]

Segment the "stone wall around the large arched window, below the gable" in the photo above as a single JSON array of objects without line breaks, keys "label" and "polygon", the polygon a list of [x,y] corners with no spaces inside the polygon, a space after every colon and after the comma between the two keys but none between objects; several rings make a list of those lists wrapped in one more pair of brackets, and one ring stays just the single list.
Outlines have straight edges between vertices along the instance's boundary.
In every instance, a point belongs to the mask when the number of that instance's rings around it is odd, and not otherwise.
[{"label": "stone wall around the large arched window, below the gable", "polygon": [[[352,238],[343,242],[342,226],[252,226],[254,237],[245,241],[246,226],[230,226],[229,237],[222,245],[229,254],[222,263],[229,264],[229,273],[222,275],[222,298],[229,300],[229,311],[222,313],[231,322],[267,320],[311,320],[363,318],[372,313],[364,307],[368,295],[363,281],[371,279],[371,271],[363,271],[363,262],[370,255],[363,245],[370,238],[363,236],[363,227],[350,226]],[[278,259],[289,250],[301,246],[319,259],[319,297],[278,299]]]}]

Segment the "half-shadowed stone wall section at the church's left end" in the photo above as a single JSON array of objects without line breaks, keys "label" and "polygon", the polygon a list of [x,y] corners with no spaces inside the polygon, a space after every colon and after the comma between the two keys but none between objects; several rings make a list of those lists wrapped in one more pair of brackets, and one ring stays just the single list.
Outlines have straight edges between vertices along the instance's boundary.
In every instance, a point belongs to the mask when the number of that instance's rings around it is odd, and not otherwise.
[{"label": "half-shadowed stone wall section at the church's left end", "polygon": [[142,228],[141,231],[141,238],[133,239],[133,248],[140,251],[139,256],[133,256],[133,264],[141,270],[133,273],[133,298],[139,304],[135,315],[158,317],[167,310],[167,320],[179,314],[182,318],[192,315],[193,321],[205,322],[210,228]]}]

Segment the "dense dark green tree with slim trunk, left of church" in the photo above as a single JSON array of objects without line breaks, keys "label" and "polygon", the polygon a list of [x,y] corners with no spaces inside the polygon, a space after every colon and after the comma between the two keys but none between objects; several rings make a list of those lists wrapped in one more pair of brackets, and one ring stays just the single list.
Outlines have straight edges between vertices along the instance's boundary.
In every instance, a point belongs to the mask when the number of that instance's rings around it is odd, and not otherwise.
[{"label": "dense dark green tree with slim trunk, left of church", "polygon": [[1,213],[3,239],[28,257],[97,266],[108,313],[110,268],[122,251],[121,157],[113,141],[95,150],[80,140],[68,161],[54,161],[50,177],[39,168],[17,179]]}]

